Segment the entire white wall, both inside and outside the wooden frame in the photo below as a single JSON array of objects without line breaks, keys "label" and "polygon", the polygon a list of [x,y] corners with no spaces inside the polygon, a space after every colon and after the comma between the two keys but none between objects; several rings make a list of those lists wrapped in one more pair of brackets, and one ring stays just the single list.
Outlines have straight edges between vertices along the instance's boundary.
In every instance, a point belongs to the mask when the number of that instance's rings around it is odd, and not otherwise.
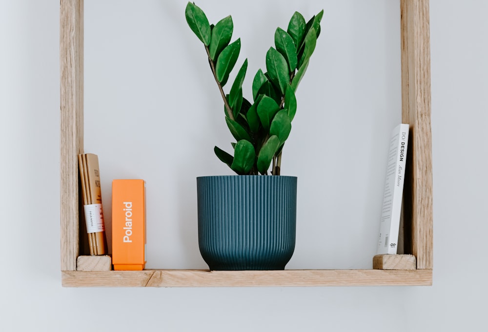
[{"label": "entire white wall, both inside and outside the wooden frame", "polygon": [[[100,156],[107,219],[111,180],[144,178],[147,267],[205,268],[195,177],[231,174],[212,152],[231,137],[203,48],[184,21],[186,1],[85,2],[85,151]],[[285,27],[294,10],[309,17],[325,9],[284,153],[283,172],[299,176],[297,248],[287,267],[368,268],[388,132],[400,121],[398,1],[260,2],[197,3],[213,22],[232,14],[243,43],[239,63],[249,59],[244,94],[276,26]],[[430,6],[432,287],[64,289],[59,2],[1,0],[0,330],[465,331],[483,324],[487,10],[475,0]]]}]

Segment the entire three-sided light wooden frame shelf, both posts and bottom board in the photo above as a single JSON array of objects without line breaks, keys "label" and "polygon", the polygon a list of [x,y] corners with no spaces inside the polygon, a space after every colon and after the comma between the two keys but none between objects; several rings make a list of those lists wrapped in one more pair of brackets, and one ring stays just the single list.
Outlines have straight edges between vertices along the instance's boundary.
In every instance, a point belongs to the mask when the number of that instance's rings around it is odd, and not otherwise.
[{"label": "entire three-sided light wooden frame shelf, both posts and bottom board", "polygon": [[[78,159],[83,153],[83,0],[61,0],[61,276],[66,287],[366,286],[432,284],[429,1],[400,0],[402,121],[410,124],[404,220],[407,251],[373,270],[76,271]],[[408,249],[409,248],[409,249]],[[415,266],[416,259],[416,266]]]}]

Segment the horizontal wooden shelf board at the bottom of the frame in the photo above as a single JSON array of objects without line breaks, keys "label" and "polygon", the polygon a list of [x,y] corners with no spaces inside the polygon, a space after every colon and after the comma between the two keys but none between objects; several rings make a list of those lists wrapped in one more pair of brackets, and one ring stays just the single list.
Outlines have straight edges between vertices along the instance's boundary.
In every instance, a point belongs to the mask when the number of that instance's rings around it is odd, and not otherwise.
[{"label": "horizontal wooden shelf board at the bottom of the frame", "polygon": [[432,270],[62,271],[63,287],[431,286]]}]

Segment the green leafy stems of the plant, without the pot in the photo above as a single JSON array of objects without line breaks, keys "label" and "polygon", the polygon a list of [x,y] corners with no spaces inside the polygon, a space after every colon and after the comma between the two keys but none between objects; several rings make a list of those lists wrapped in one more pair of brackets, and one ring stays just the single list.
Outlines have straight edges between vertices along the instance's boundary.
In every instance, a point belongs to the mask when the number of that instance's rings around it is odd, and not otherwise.
[{"label": "green leafy stems of the plant, without the pot", "polygon": [[230,72],[241,50],[241,39],[230,42],[232,17],[210,25],[203,10],[188,2],[185,17],[204,46],[208,62],[224,99],[225,122],[237,142],[234,156],[214,148],[217,157],[239,175],[280,175],[281,156],[291,121],[297,110],[295,91],[308,67],[324,11],[308,22],[295,12],[287,31],[277,28],[275,46],[266,53],[266,72],[258,70],[252,82],[251,103],[243,97],[242,85],[247,70],[244,60],[228,94],[224,92]]}]

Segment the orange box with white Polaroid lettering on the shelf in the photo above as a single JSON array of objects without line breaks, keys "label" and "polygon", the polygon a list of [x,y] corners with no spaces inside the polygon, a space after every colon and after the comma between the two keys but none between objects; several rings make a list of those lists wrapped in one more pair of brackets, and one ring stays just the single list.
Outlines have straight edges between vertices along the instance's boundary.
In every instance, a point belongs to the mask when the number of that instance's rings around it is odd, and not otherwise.
[{"label": "orange box with white Polaroid lettering on the shelf", "polygon": [[112,181],[114,270],[144,270],[146,227],[144,180]]}]

